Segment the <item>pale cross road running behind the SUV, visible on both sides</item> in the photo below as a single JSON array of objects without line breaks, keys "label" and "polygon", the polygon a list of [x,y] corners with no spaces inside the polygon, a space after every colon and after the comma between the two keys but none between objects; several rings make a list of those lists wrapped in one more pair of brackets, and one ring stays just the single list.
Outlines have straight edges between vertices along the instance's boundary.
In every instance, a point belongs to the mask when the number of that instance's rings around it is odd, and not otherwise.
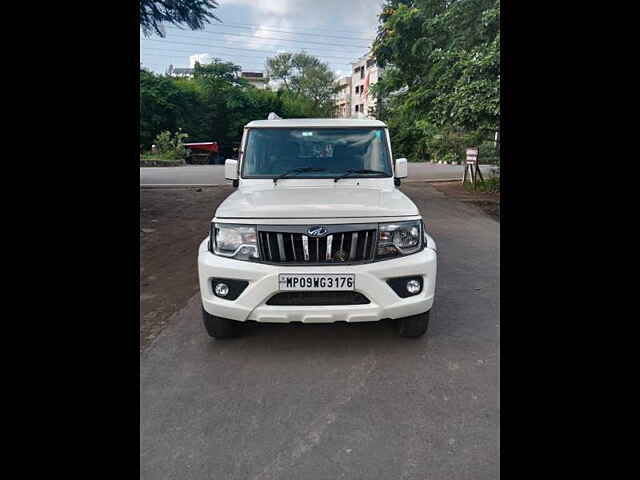
[{"label": "pale cross road running behind the SUV, visible on both sides", "polygon": [[[490,165],[481,165],[483,175],[489,175]],[[462,178],[462,165],[409,163],[408,180],[451,180]],[[187,165],[184,167],[142,167],[140,185],[226,185],[224,165]]]}]

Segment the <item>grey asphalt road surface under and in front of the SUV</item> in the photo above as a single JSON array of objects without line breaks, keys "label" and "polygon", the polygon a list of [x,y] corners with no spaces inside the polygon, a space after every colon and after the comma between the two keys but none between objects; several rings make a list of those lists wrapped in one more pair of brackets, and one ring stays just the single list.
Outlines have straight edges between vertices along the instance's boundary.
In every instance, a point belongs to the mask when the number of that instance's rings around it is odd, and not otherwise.
[{"label": "grey asphalt road surface under and in front of the SUV", "polygon": [[500,477],[500,226],[402,190],[438,244],[427,334],[254,324],[215,341],[193,297],[140,357],[140,478]]}]

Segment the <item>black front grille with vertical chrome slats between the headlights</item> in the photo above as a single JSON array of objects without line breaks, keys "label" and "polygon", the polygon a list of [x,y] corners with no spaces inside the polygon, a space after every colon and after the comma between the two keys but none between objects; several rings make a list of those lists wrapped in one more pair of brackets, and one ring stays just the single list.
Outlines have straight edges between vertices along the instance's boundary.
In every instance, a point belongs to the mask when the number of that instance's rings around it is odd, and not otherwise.
[{"label": "black front grille with vertical chrome slats between the headlights", "polygon": [[260,226],[260,258],[269,263],[343,264],[373,260],[377,226],[327,226],[323,237],[311,237],[309,226]]}]

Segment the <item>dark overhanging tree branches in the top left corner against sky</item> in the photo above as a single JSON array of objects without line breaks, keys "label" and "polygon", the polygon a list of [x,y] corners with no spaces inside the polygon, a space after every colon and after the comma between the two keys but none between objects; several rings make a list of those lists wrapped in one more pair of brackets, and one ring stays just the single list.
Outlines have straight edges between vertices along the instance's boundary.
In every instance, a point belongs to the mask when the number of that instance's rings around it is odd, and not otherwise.
[{"label": "dark overhanging tree branches in the top left corner against sky", "polygon": [[140,26],[145,36],[156,33],[164,37],[162,23],[198,30],[211,18],[219,21],[211,13],[217,7],[217,0],[140,0]]}]

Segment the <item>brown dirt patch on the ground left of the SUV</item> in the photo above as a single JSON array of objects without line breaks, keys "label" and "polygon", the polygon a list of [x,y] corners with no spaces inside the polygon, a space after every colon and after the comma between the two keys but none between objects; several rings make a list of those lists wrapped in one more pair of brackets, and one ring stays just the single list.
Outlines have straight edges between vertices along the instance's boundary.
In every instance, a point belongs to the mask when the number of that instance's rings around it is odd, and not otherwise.
[{"label": "brown dirt patch on the ground left of the SUV", "polygon": [[198,246],[232,187],[140,190],[140,350],[198,292]]}]

